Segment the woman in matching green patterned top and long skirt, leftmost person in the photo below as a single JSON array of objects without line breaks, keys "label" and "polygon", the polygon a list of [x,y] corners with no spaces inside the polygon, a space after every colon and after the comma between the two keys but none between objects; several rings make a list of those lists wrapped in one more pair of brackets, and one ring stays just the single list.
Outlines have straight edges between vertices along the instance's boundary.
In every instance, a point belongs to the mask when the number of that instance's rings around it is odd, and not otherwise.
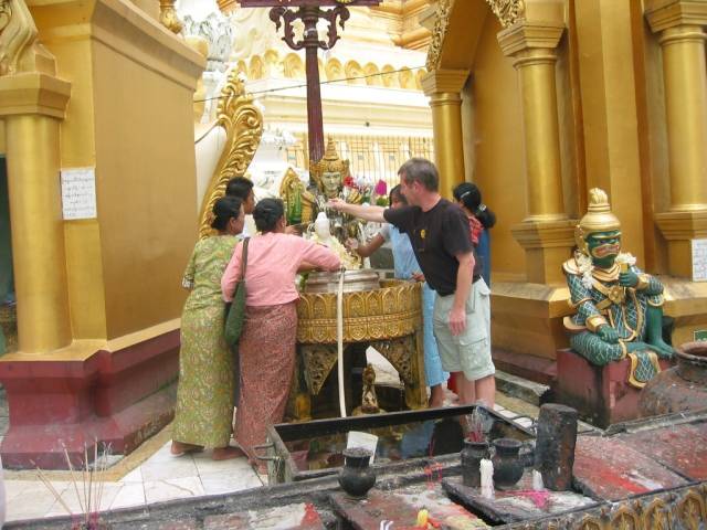
[{"label": "woman in matching green patterned top and long skirt, leftmost person", "polygon": [[179,388],[171,453],[213,447],[213,459],[244,456],[229,445],[233,421],[233,354],[223,338],[221,276],[243,231],[240,199],[224,197],[213,206],[219,233],[194,246],[182,284],[191,293],[181,317]]}]

